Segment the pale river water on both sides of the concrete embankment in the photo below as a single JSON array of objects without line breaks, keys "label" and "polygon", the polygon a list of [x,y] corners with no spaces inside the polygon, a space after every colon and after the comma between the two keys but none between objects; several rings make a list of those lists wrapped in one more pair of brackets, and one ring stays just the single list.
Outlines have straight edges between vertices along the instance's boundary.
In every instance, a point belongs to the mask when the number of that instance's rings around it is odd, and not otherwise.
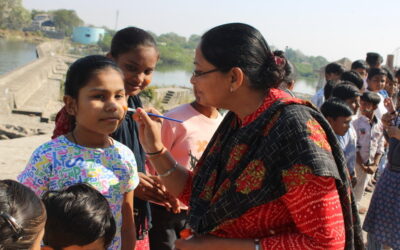
[{"label": "pale river water on both sides of the concrete embankment", "polygon": [[[6,41],[0,39],[0,75],[15,68],[23,66],[36,59],[36,45],[20,41]],[[191,72],[176,69],[169,71],[155,71],[153,86],[180,86],[191,87]],[[315,93],[316,81],[298,79],[295,84],[295,92],[313,95]]]}]

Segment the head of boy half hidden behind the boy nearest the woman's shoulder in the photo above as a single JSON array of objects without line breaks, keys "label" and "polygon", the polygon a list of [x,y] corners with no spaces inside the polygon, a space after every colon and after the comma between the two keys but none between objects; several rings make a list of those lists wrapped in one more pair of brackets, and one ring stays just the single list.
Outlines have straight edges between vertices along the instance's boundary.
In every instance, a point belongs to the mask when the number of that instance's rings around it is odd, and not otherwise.
[{"label": "head of boy half hidden behind the boy nearest the woman's shoulder", "polygon": [[356,114],[360,108],[360,90],[352,85],[351,82],[343,81],[332,91],[332,97],[336,97],[344,101]]}]

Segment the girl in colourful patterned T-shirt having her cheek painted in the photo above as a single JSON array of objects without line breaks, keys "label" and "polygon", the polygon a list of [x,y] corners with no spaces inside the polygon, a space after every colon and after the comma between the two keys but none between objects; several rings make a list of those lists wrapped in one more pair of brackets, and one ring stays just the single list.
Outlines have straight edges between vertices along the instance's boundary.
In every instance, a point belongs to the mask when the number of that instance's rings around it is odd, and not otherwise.
[{"label": "girl in colourful patterned T-shirt having her cheek painted", "polygon": [[38,195],[91,184],[107,198],[116,220],[110,248],[134,249],[136,161],[129,148],[109,137],[125,117],[122,72],[104,56],[77,60],[67,72],[64,103],[74,129],[37,148],[18,179]]}]

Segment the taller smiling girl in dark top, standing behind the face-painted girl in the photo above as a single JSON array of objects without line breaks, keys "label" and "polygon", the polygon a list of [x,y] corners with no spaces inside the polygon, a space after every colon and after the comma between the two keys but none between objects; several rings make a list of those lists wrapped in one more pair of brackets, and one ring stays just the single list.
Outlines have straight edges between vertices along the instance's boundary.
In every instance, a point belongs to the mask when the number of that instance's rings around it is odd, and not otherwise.
[{"label": "taller smiling girl in dark top, standing behind the face-painted girl", "polygon": [[[107,57],[115,61],[124,74],[125,91],[128,107],[142,107],[139,93],[152,79],[159,53],[154,38],[146,31],[128,27],[118,31],[112,39],[111,50]],[[62,109],[56,118],[53,138],[71,131],[73,123]],[[166,203],[167,195],[157,181],[146,176],[145,153],[139,143],[138,128],[130,115],[127,115],[120,127],[111,135],[115,140],[128,146],[134,153],[140,184],[135,191],[135,223],[138,242],[136,249],[149,249],[148,238],[150,206],[148,200]]]}]

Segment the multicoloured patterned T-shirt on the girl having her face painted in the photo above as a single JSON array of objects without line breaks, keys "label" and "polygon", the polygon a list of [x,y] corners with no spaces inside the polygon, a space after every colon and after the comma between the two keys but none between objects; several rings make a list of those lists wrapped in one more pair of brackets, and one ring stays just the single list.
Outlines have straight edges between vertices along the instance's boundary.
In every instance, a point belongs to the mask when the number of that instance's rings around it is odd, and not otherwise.
[{"label": "multicoloured patterned T-shirt on the girl having her face painted", "polygon": [[121,248],[122,202],[124,193],[139,184],[132,151],[114,141],[107,148],[87,148],[61,135],[39,146],[18,181],[39,197],[76,183],[88,183],[107,199],[117,232],[109,249]]}]

